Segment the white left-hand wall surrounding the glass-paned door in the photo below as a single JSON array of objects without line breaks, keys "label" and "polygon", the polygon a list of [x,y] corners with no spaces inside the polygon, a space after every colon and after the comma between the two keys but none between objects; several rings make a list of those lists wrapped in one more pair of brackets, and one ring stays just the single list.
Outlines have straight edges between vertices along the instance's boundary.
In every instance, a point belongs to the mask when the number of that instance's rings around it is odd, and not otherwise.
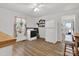
[{"label": "white left-hand wall surrounding the glass-paned door", "polygon": [[[14,20],[15,16],[20,16],[26,19],[27,26],[35,27],[35,23],[32,17],[24,15],[22,13],[10,11],[7,9],[0,8],[0,31],[13,35],[14,32]],[[32,20],[32,21],[31,21]]]}]

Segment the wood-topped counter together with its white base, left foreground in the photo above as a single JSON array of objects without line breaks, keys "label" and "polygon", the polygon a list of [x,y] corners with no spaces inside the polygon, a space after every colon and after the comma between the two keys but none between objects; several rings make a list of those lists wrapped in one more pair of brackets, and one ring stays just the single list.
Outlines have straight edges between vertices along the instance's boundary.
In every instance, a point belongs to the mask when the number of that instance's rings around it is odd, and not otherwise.
[{"label": "wood-topped counter together with its white base, left foreground", "polygon": [[[11,37],[3,32],[0,32],[0,56],[12,55],[13,44],[16,42],[14,37]],[[9,54],[10,53],[10,54]]]}]

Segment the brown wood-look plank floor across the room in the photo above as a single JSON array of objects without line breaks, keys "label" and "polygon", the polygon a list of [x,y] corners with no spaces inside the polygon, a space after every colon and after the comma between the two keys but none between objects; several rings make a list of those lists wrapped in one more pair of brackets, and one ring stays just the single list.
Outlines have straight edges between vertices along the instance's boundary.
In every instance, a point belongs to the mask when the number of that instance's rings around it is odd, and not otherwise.
[{"label": "brown wood-look plank floor across the room", "polygon": [[33,41],[21,41],[14,44],[14,56],[63,56],[64,45],[61,42],[56,44],[48,43],[43,39]]}]

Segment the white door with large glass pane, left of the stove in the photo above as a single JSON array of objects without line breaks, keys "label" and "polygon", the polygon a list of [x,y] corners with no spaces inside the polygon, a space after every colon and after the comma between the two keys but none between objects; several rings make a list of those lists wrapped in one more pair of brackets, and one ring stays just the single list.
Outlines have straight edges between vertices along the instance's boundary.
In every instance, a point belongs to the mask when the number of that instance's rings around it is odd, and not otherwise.
[{"label": "white door with large glass pane, left of the stove", "polygon": [[15,32],[17,41],[26,39],[26,21],[24,18],[15,17],[14,32]]}]

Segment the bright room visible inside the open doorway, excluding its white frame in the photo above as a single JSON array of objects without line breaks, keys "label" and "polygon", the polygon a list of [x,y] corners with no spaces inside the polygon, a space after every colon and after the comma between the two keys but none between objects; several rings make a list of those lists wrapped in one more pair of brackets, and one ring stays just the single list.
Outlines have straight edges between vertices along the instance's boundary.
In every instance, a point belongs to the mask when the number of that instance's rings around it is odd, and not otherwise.
[{"label": "bright room visible inside the open doorway, excluding its white frame", "polygon": [[74,29],[73,29],[73,22],[66,22],[65,23],[65,40],[66,41],[72,41],[72,35],[73,35],[73,32],[74,32]]}]

